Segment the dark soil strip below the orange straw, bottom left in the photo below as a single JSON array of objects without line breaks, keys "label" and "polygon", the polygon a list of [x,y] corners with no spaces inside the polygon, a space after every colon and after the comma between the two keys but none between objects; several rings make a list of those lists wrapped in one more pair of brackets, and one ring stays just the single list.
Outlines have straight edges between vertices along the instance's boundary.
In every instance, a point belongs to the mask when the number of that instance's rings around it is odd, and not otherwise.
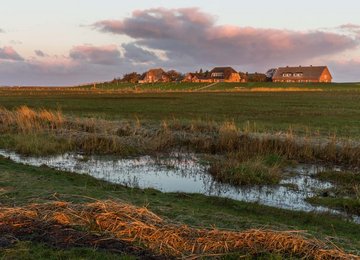
[{"label": "dark soil strip below the orange straw, bottom left", "polygon": [[58,249],[91,247],[97,250],[133,255],[138,259],[169,259],[119,239],[77,230],[68,225],[41,222],[29,218],[16,218],[0,222],[0,249],[11,247],[18,241],[38,242]]}]

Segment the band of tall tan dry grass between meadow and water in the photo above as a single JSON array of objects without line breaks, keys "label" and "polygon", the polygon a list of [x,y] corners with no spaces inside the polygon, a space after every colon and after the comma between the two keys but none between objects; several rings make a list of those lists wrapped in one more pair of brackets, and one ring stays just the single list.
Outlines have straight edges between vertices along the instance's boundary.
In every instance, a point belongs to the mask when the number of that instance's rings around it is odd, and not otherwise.
[{"label": "band of tall tan dry grass between meadow and water", "polygon": [[[43,153],[57,150],[98,154],[139,155],[173,150],[210,154],[237,154],[242,161],[275,154],[289,160],[326,162],[360,166],[360,145],[340,142],[336,137],[299,137],[290,128],[274,135],[254,132],[256,125],[244,129],[235,122],[163,120],[160,124],[135,121],[106,121],[64,117],[59,111],[19,107],[0,110],[2,138],[12,136],[18,151]],[[36,136],[33,142],[26,137]],[[16,136],[16,137],[15,137]],[[21,136],[21,137],[19,137]],[[43,139],[44,141],[41,141]],[[1,143],[6,141],[0,141]],[[51,142],[52,144],[44,144]],[[61,147],[58,145],[61,143]],[[51,146],[55,148],[51,148]],[[3,146],[4,147],[4,146]],[[8,148],[7,146],[6,148]],[[11,147],[11,146],[10,146]]]}]

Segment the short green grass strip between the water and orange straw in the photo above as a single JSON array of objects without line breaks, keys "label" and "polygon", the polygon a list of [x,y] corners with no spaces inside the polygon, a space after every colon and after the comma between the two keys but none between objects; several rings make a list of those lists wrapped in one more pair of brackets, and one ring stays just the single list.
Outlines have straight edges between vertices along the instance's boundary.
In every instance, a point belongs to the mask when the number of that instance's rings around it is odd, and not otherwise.
[{"label": "short green grass strip between the water and orange straw", "polygon": [[120,199],[147,206],[163,217],[196,227],[215,225],[233,230],[307,230],[319,239],[330,239],[347,250],[360,252],[359,225],[327,214],[292,212],[198,194],[185,196],[178,193],[164,194],[152,189],[129,189],[86,175],[25,166],[4,158],[0,158],[0,173],[0,204],[3,206],[23,206],[54,200],[86,202],[89,197]]}]

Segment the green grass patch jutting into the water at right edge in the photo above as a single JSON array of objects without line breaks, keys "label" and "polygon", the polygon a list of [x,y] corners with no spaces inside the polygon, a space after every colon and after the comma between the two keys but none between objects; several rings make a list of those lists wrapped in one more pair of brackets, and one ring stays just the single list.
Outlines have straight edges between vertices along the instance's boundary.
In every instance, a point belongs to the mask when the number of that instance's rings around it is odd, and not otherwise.
[{"label": "green grass patch jutting into the water at right edge", "polygon": [[360,215],[359,172],[324,171],[314,177],[331,182],[334,187],[320,191],[319,195],[307,199],[308,202]]}]

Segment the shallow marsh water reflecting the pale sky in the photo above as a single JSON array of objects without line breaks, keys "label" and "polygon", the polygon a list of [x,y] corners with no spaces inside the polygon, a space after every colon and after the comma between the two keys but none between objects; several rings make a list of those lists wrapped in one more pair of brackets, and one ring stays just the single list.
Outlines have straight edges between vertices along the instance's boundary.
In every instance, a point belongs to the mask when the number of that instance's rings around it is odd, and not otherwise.
[{"label": "shallow marsh water reflecting the pale sky", "polygon": [[[287,169],[291,177],[283,180],[282,185],[263,187],[234,187],[215,181],[207,173],[208,166],[199,163],[194,155],[178,154],[172,158],[153,158],[142,156],[132,159],[114,157],[66,154],[52,157],[22,157],[16,153],[0,150],[0,155],[10,157],[15,162],[28,165],[49,167],[88,174],[95,178],[129,187],[154,188],[162,192],[201,193],[235,200],[258,202],[260,204],[291,210],[330,211],[321,206],[313,206],[305,198],[315,195],[316,190],[329,188],[331,184],[311,177],[321,167],[301,165]],[[294,188],[293,186],[297,188]],[[360,219],[357,217],[357,222]]]}]

